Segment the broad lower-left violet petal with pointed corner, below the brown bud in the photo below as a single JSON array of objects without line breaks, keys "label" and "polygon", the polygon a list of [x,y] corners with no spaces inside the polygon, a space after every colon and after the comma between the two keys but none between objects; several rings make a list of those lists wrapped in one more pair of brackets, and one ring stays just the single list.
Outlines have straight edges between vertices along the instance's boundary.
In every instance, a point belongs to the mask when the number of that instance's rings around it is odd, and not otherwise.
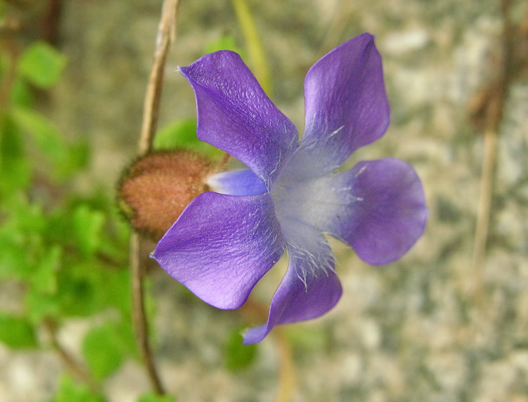
[{"label": "broad lower-left violet petal with pointed corner, below the brown bud", "polygon": [[285,249],[268,193],[196,197],[158,242],[153,258],[210,305],[234,309]]}]

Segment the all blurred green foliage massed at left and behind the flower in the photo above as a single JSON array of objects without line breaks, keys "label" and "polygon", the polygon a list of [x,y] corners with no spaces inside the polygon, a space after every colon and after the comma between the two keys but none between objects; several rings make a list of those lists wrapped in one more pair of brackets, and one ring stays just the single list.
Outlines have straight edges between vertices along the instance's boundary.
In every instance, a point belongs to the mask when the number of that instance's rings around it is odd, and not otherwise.
[{"label": "all blurred green foliage massed at left and behind the flower", "polygon": [[[230,35],[209,44],[206,52],[221,49],[243,56]],[[60,348],[56,332],[65,322],[92,319],[97,325],[86,332],[80,345],[83,359],[76,362],[86,371],[86,384],[64,375],[49,402],[104,402],[101,383],[126,359],[138,358],[128,270],[130,229],[107,187],[76,190],[90,161],[89,144],[64,135],[40,111],[39,100],[67,64],[67,57],[45,42],[0,47],[0,290],[17,298],[0,306],[0,342],[15,350]],[[194,118],[159,130],[155,148],[189,148],[212,159],[223,154],[197,139]],[[153,301],[146,304],[152,315]],[[256,357],[257,346],[244,347],[241,341],[237,331],[225,342],[228,370],[244,369]],[[148,393],[138,401],[174,398]]]}]

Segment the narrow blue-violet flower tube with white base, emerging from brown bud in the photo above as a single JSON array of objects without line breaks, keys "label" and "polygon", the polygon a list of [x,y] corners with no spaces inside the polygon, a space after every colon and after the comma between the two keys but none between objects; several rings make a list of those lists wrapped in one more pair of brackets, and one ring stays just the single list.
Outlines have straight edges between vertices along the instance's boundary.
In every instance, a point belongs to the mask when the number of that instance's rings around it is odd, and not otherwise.
[{"label": "narrow blue-violet flower tube with white base, emerging from brown bud", "polygon": [[212,191],[230,195],[254,195],[266,192],[266,184],[251,170],[231,170],[211,175],[206,184]]}]

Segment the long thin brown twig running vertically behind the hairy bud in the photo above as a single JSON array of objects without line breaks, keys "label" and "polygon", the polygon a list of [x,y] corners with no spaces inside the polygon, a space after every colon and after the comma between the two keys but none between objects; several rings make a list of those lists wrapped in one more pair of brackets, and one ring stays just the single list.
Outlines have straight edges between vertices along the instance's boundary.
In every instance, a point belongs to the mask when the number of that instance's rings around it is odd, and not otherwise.
[{"label": "long thin brown twig running vertically behind the hairy bud", "polygon": [[[158,34],[156,37],[154,62],[145,94],[143,125],[138,146],[139,155],[145,155],[152,149],[154,134],[157,128],[159,102],[161,100],[163,88],[165,62],[169,46],[175,40],[176,36],[176,13],[178,3],[179,0],[165,0],[163,3],[162,16],[159,21]],[[165,391],[156,370],[152,350],[150,349],[149,344],[143,292],[144,267],[141,257],[141,238],[139,233],[133,232],[130,238],[130,266],[132,276],[134,328],[150,383],[152,383],[152,387],[158,395],[164,395]]]}]

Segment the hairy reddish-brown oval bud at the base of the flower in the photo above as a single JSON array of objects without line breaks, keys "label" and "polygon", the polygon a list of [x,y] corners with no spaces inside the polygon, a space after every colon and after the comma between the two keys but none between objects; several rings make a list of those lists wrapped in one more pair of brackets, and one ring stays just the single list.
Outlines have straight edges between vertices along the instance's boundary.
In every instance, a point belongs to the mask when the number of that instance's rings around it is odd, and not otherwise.
[{"label": "hairy reddish-brown oval bud at the base of the flower", "polygon": [[207,191],[204,180],[214,167],[211,160],[188,150],[147,154],[123,175],[120,208],[135,229],[157,241],[187,204]]}]

